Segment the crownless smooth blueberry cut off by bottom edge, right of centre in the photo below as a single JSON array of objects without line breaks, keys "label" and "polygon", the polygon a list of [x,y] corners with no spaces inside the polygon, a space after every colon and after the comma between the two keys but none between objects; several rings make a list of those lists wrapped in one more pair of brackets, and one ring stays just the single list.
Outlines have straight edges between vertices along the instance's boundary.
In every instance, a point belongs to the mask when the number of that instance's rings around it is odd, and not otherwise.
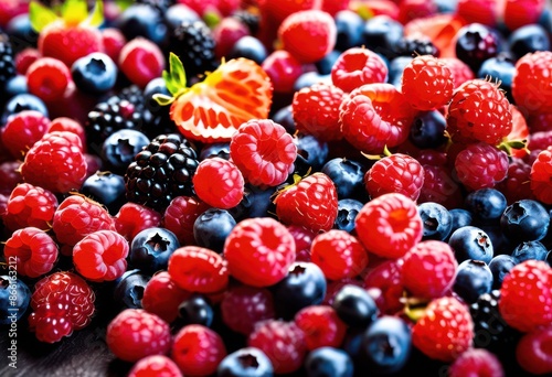
[{"label": "crownless smooth blueberry cut off by bottom edge, right of centre", "polygon": [[353,365],[349,354],[335,347],[316,348],[305,358],[308,377],[352,377]]}]

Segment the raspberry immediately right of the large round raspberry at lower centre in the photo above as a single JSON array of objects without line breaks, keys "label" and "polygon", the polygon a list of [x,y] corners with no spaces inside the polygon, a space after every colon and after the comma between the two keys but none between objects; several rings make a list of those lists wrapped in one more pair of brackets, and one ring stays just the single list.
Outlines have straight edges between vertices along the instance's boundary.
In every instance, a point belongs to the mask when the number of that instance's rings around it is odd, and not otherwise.
[{"label": "raspberry immediately right of the large round raspberry at lower centre", "polygon": [[338,229],[316,236],[310,257],[329,280],[354,278],[368,266],[368,254],[362,244],[349,233]]}]

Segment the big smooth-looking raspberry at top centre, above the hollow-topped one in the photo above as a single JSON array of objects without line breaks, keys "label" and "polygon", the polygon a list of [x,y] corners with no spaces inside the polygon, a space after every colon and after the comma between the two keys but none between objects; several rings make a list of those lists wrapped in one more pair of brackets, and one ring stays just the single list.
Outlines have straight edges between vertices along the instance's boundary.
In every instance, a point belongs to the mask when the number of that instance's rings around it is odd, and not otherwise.
[{"label": "big smooth-looking raspberry at top centre, above the hollow-topped one", "polygon": [[304,64],[318,62],[330,53],[336,46],[337,34],[333,18],[321,10],[293,13],[278,28],[283,49]]}]

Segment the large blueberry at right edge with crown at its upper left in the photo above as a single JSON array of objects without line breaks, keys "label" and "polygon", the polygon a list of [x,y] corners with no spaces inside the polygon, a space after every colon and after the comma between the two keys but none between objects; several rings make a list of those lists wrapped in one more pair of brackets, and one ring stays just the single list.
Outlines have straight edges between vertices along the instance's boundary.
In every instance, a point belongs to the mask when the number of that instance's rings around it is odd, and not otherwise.
[{"label": "large blueberry at right edge with crown at its upper left", "polygon": [[514,244],[541,240],[548,233],[550,215],[542,204],[521,200],[510,204],[500,217],[500,228]]}]

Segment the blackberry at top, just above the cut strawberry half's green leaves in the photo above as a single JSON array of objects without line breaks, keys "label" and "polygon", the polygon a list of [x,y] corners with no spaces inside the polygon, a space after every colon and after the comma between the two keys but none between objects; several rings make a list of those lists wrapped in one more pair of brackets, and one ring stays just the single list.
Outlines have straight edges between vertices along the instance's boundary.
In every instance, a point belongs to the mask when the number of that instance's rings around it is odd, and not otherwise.
[{"label": "blackberry at top, just above the cut strawberry half's green leaves", "polygon": [[169,50],[182,61],[188,79],[216,68],[214,46],[212,31],[203,21],[184,21],[169,36]]}]

